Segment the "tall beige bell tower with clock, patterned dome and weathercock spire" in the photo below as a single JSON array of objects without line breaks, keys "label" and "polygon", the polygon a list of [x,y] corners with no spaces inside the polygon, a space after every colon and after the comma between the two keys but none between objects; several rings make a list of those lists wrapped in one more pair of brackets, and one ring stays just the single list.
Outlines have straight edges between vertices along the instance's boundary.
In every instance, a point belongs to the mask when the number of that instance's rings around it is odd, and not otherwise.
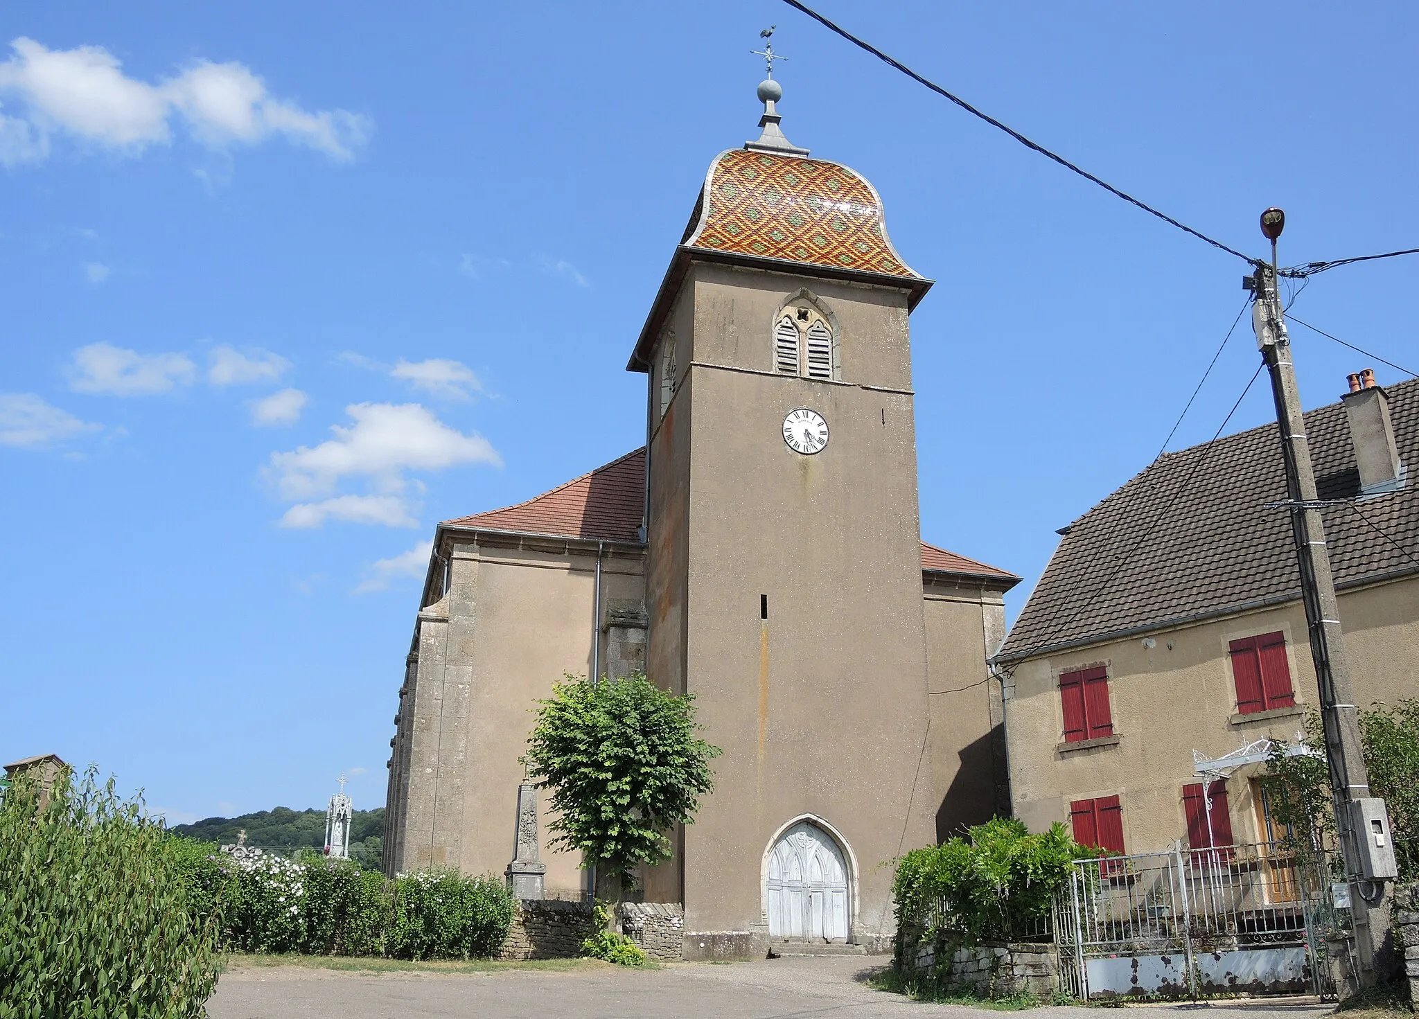
[{"label": "tall beige bell tower with clock, patterned dome and weathercock spire", "polygon": [[725,751],[646,876],[685,904],[685,958],[880,944],[878,864],[935,842],[908,328],[931,281],[863,176],[788,141],[782,95],[763,81],[761,136],[711,162],[627,365],[647,673]]}]

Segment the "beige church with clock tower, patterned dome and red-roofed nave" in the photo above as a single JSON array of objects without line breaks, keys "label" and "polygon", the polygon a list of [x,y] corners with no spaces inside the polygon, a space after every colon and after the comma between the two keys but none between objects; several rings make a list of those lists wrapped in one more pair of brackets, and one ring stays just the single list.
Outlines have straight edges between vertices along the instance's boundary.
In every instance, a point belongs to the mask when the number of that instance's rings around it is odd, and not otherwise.
[{"label": "beige church with clock tower, patterned dome and red-roofed nave", "polygon": [[[931,280],[871,183],[788,141],[779,84],[758,97],[761,136],[710,162],[630,351],[643,444],[438,525],[390,741],[386,870],[502,874],[555,681],[694,694],[715,789],[637,893],[684,905],[687,959],[883,951],[891,861],[1010,812],[986,659],[1020,578],[921,539]],[[542,894],[585,898],[545,813]]]}]

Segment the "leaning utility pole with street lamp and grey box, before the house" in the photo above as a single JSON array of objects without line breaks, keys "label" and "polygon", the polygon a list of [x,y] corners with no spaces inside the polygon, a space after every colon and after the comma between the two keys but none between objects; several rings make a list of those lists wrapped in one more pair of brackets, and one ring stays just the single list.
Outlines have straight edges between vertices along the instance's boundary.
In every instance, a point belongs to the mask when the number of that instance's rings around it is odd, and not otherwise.
[{"label": "leaning utility pole with street lamp and grey box, before the house", "polygon": [[1330,765],[1331,798],[1335,806],[1335,832],[1345,860],[1349,886],[1349,910],[1355,927],[1355,955],[1359,961],[1358,982],[1371,986],[1385,979],[1386,964],[1376,966],[1389,932],[1389,903],[1385,880],[1398,876],[1393,839],[1385,802],[1369,795],[1369,773],[1361,751],[1359,724],[1355,715],[1354,685],[1345,659],[1345,639],[1340,627],[1335,580],[1331,573],[1325,527],[1315,494],[1311,448],[1296,389],[1291,341],[1277,292],[1276,240],[1286,226],[1286,213],[1267,209],[1261,213],[1261,233],[1271,241],[1271,264],[1256,263],[1247,288],[1256,295],[1252,325],[1256,329],[1261,360],[1271,375],[1276,397],[1276,422],[1281,430],[1286,457],[1286,487],[1296,558],[1301,569],[1301,599],[1320,687],[1321,721],[1325,732],[1325,759]]}]

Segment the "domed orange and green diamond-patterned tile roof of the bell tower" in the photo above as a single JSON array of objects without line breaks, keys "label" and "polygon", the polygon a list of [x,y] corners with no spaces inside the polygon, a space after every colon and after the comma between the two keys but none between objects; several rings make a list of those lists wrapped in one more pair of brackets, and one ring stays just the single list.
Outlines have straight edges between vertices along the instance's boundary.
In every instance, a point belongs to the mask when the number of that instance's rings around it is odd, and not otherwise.
[{"label": "domed orange and green diamond-patterned tile roof of the bell tower", "polygon": [[721,153],[684,246],[921,280],[887,238],[881,199],[839,163],[748,149]]}]

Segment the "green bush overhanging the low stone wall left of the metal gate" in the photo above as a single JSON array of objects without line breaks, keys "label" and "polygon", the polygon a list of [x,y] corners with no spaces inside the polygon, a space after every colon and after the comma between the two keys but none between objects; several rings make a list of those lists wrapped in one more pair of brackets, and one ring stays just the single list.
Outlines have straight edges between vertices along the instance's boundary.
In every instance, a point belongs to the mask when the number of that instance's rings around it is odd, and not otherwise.
[{"label": "green bush overhanging the low stone wall left of the metal gate", "polygon": [[1060,823],[1030,835],[1023,822],[996,817],[965,839],[901,857],[893,881],[898,930],[949,931],[962,944],[1023,937],[1049,917],[1070,861],[1097,854]]}]

